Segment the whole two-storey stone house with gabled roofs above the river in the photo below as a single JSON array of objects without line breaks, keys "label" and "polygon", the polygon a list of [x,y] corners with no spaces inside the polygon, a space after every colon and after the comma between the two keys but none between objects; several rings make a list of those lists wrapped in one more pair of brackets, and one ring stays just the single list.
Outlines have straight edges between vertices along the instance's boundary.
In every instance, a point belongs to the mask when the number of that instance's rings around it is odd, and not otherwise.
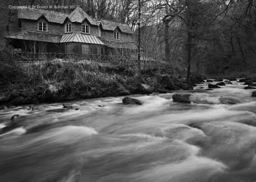
[{"label": "whole two-storey stone house with gabled roofs above the river", "polygon": [[94,19],[80,7],[70,14],[19,9],[18,23],[20,32],[5,39],[22,52],[108,55],[137,49],[128,25]]}]

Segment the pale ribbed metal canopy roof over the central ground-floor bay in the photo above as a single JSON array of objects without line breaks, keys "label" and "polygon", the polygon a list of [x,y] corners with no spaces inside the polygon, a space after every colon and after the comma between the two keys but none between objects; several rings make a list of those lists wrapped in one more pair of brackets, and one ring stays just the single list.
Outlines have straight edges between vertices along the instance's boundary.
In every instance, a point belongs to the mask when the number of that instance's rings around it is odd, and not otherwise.
[{"label": "pale ribbed metal canopy roof over the central ground-floor bay", "polygon": [[82,42],[104,45],[104,43],[97,36],[82,33],[69,33],[62,35],[60,43],[64,42]]}]

